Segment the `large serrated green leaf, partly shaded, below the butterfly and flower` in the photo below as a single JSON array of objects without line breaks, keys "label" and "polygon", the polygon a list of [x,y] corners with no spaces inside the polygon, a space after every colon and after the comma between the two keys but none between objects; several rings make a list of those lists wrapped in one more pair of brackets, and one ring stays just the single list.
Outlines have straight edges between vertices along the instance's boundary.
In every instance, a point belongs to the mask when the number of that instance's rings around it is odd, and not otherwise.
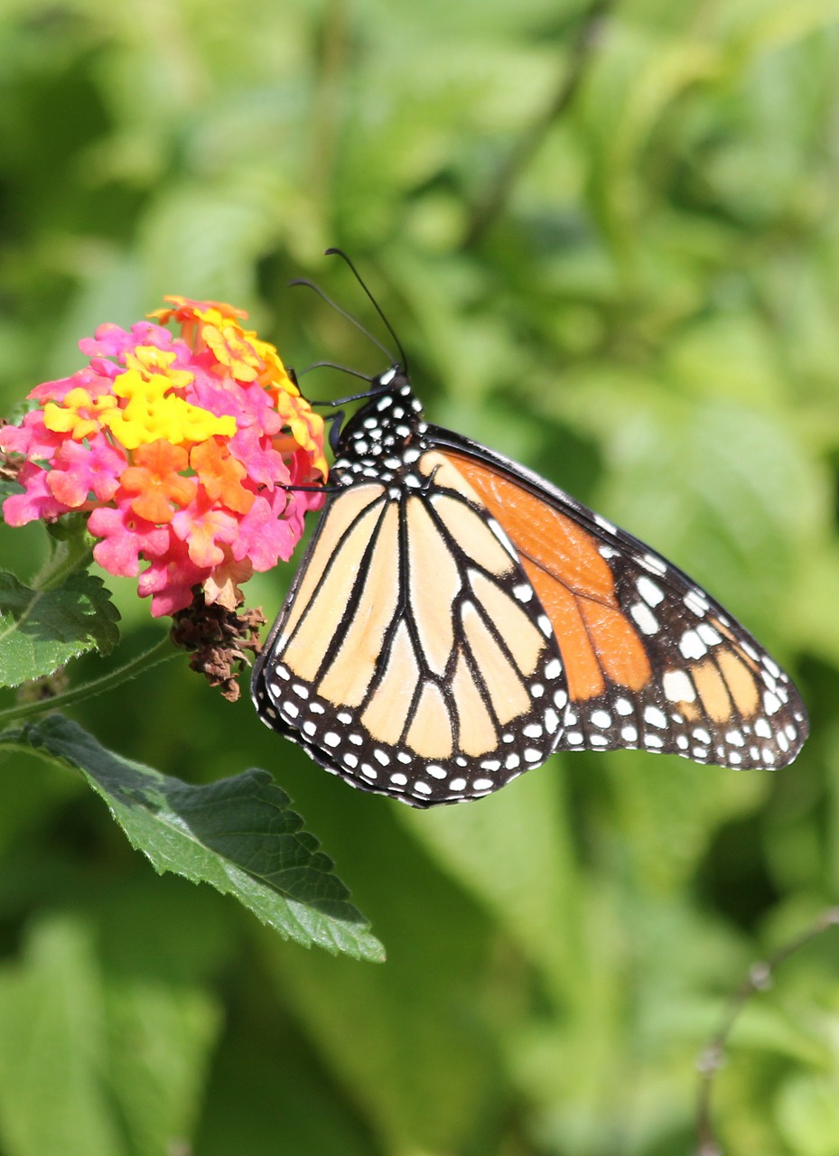
[{"label": "large serrated green leaf, partly shaded, below the butterfly and flower", "polygon": [[262,922],[305,947],[384,959],[332,860],[302,829],[303,820],[267,771],[191,786],[106,750],[59,714],[8,731],[0,743],[80,770],[156,870],[235,895]]}]

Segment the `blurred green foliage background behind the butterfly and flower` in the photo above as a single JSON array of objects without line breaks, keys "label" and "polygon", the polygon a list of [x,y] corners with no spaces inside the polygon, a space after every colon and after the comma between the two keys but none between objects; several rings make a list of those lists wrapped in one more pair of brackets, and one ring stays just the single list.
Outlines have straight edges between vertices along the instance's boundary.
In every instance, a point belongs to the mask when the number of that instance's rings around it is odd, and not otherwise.
[{"label": "blurred green foliage background behind the butterfly and flower", "polygon": [[[79,707],[191,781],[272,770],[388,962],[156,876],[69,772],[8,758],[1,1156],[695,1150],[727,995],[839,883],[838,178],[837,0],[3,0],[1,410],[165,292],[247,307],[298,368],[378,371],[287,287],[381,334],[321,255],[342,245],[431,420],[707,585],[812,738],[777,775],[555,756],[417,814],[185,659]],[[2,527],[3,566],[42,540]],[[252,603],[272,616],[291,573]],[[161,624],[109,585],[134,653]],[[730,1154],[839,1153],[839,932],[750,1003],[715,1096]]]}]

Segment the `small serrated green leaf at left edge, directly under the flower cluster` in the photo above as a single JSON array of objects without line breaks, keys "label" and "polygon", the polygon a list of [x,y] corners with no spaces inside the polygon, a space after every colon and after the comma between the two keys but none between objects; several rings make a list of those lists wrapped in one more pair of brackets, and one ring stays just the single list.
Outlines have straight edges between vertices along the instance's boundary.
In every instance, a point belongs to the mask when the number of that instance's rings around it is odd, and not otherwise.
[{"label": "small serrated green leaf at left edge, directly under the flower cluster", "polygon": [[0,571],[0,686],[52,674],[72,658],[119,640],[119,612],[101,578],[74,573],[53,590],[31,590]]}]

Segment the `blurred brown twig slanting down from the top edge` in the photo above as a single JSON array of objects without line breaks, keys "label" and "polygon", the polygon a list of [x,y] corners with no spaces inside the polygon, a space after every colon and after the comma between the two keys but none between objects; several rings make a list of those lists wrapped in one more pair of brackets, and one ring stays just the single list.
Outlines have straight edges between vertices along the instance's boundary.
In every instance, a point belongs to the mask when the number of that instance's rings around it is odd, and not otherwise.
[{"label": "blurred brown twig slanting down from the top edge", "polygon": [[527,169],[551,126],[565,112],[577,95],[600,43],[606,18],[615,0],[594,0],[580,21],[571,45],[571,64],[564,72],[556,92],[530,127],[517,140],[507,158],[500,164],[495,179],[475,205],[461,242],[469,250],[484,238],[500,214],[511,191]]}]

